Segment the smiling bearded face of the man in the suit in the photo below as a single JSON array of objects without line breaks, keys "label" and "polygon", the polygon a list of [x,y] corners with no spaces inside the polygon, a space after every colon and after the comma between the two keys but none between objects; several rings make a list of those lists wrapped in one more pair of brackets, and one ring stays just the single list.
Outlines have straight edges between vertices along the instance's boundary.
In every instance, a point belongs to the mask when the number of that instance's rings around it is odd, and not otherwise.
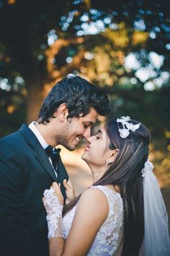
[{"label": "smiling bearded face of the man in the suit", "polygon": [[86,116],[73,117],[66,120],[60,135],[55,135],[57,144],[63,145],[68,150],[74,150],[79,140],[91,134],[91,126],[97,120],[97,111],[91,108]]}]

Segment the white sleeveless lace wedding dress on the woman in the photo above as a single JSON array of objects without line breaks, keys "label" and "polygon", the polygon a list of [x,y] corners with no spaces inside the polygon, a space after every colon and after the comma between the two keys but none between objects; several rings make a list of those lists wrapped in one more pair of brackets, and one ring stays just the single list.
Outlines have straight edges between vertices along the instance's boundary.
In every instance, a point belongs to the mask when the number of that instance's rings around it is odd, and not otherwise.
[{"label": "white sleeveless lace wedding dress on the woman", "polygon": [[[87,255],[107,256],[114,255],[121,242],[122,236],[122,221],[123,221],[123,205],[120,194],[114,192],[109,187],[105,186],[91,186],[101,190],[107,197],[109,202],[109,213],[107,219],[104,221],[94,242],[89,249]],[[79,202],[78,202],[79,203]],[[71,229],[71,223],[73,216],[76,212],[75,205],[67,214],[63,217],[63,236],[66,239]]]}]

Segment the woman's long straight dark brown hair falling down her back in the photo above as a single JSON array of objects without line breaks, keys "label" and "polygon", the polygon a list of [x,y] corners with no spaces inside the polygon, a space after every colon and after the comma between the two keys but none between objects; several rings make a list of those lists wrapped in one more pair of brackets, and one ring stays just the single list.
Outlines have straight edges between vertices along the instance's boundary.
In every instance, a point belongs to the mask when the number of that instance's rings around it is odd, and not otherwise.
[{"label": "woman's long straight dark brown hair falling down her back", "polygon": [[[130,122],[138,124],[138,121],[130,120]],[[119,128],[122,128],[121,125],[119,123],[118,127],[116,119],[112,119],[105,127],[110,141],[109,148],[117,148],[118,153],[115,161],[94,185],[112,184],[120,188],[124,205],[122,256],[137,256],[144,234],[143,177],[141,171],[148,159],[150,132],[143,124],[140,124],[135,132],[130,131],[130,135],[122,139],[118,131]],[[66,205],[63,214],[66,214],[76,205],[80,196]]]}]

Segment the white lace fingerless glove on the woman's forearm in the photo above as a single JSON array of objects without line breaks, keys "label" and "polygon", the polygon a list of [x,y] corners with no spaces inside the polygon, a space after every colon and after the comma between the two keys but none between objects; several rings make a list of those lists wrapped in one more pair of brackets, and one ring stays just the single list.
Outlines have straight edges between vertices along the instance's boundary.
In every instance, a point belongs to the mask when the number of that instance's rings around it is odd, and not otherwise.
[{"label": "white lace fingerless glove on the woman's forearm", "polygon": [[54,189],[45,189],[44,205],[47,212],[48,222],[48,239],[63,236],[62,211],[63,205],[58,201],[58,197],[54,195]]}]

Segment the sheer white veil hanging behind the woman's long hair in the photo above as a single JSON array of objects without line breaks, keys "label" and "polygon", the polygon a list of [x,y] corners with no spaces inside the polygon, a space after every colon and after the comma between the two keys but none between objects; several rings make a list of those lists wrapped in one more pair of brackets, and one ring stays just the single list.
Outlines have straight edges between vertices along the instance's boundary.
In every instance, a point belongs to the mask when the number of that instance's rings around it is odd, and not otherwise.
[{"label": "sheer white veil hanging behind the woman's long hair", "polygon": [[153,163],[146,161],[142,176],[145,232],[141,255],[169,256],[169,220],[158,181],[153,174]]}]

